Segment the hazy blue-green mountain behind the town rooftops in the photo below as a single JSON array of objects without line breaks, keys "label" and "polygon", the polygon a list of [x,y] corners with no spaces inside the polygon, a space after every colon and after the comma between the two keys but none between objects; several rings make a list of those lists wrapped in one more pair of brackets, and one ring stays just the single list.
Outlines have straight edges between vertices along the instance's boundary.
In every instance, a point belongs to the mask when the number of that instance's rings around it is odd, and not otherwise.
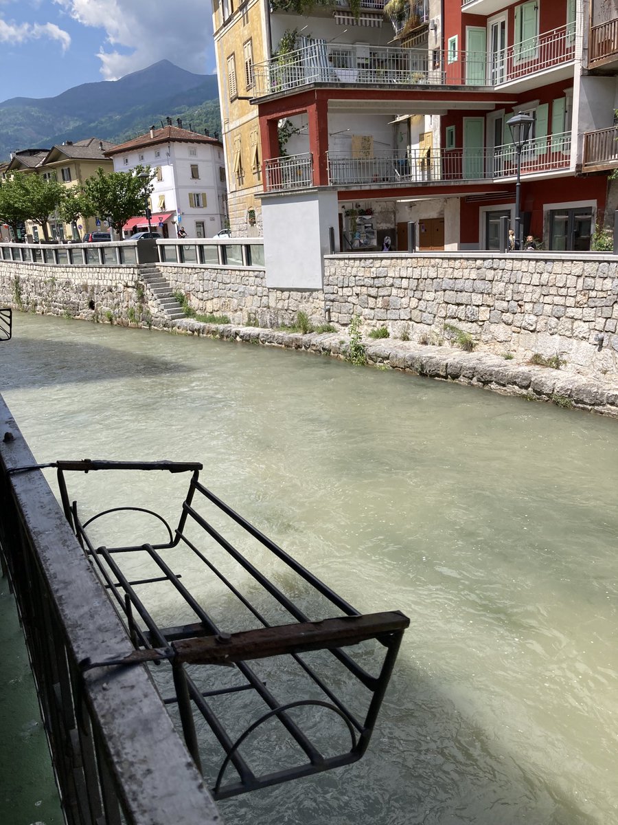
[{"label": "hazy blue-green mountain behind the town rooftops", "polygon": [[93,135],[120,143],[168,115],[195,131],[220,130],[217,76],[160,60],[119,80],[82,83],[56,97],[12,97],[0,103],[0,158]]}]

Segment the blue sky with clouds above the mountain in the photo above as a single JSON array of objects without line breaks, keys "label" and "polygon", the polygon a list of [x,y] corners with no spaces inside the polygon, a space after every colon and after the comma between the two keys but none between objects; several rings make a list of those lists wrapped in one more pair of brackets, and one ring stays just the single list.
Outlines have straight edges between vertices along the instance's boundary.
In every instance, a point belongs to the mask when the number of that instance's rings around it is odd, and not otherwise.
[{"label": "blue sky with clouds above the mountain", "polygon": [[208,0],[0,0],[0,101],[53,97],[162,59],[214,72]]}]

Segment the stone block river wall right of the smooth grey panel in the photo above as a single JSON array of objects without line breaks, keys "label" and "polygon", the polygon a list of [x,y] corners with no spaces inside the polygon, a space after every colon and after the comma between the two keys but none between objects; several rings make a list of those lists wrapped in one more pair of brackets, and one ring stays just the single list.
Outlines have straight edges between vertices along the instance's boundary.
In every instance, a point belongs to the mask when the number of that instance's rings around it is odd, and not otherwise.
[{"label": "stone block river wall right of the smooth grey panel", "polygon": [[618,261],[572,254],[438,253],[326,259],[325,306],[335,323],[439,343],[455,326],[489,351],[558,355],[618,375]]}]

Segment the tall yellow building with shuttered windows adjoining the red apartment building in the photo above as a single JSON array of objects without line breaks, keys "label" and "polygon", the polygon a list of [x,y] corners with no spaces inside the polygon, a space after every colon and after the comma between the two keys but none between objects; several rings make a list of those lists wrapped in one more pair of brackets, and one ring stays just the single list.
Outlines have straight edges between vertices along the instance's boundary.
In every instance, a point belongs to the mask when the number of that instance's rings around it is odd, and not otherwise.
[{"label": "tall yellow building with shuttered windows adjoining the red apartment building", "polygon": [[263,191],[258,111],[250,103],[253,65],[270,56],[262,3],[249,0],[236,10],[232,0],[213,0],[213,28],[230,226],[232,233],[252,237],[262,233],[256,196]]}]

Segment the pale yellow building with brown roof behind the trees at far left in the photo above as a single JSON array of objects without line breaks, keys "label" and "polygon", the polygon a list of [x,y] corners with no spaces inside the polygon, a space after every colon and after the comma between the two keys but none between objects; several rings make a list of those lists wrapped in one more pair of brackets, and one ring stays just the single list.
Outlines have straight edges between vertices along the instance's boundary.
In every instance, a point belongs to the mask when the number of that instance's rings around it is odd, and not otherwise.
[{"label": "pale yellow building with brown roof behind the trees at far left", "polygon": [[[23,149],[12,154],[6,173],[34,172],[45,180],[59,181],[67,187],[78,186],[95,175],[99,168],[105,172],[114,171],[114,163],[104,154],[114,146],[109,140],[87,138],[74,143],[68,140],[50,149]],[[75,226],[63,224],[60,219],[50,219],[48,224],[49,238],[56,240],[79,240],[96,229],[106,229],[96,226],[96,218],[80,217]],[[26,236],[39,240],[42,235],[42,229],[37,224],[26,222]]]}]

